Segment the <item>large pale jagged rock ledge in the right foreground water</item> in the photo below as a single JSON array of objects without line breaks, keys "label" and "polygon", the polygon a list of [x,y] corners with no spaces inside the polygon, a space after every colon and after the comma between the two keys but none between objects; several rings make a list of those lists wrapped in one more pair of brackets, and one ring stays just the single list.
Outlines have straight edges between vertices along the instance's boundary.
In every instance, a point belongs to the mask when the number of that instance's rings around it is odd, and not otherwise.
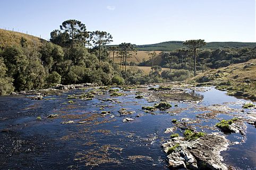
[{"label": "large pale jagged rock ledge in the right foreground water", "polygon": [[220,156],[220,151],[227,149],[228,140],[218,133],[211,133],[193,141],[176,137],[162,145],[166,153],[175,146],[174,151],[167,156],[168,167],[171,169],[228,169]]}]

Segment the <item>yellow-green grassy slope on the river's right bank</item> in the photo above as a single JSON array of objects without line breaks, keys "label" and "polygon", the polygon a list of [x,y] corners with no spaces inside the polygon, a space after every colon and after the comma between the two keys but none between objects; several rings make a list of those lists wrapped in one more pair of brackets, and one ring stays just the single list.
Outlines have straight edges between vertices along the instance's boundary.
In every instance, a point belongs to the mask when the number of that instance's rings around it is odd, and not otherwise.
[{"label": "yellow-green grassy slope on the river's right bank", "polygon": [[[219,90],[228,91],[229,95],[243,96],[256,100],[256,59],[228,67],[209,70],[193,78],[197,83],[206,80],[201,85],[216,85]],[[237,92],[238,91],[238,92]]]}]

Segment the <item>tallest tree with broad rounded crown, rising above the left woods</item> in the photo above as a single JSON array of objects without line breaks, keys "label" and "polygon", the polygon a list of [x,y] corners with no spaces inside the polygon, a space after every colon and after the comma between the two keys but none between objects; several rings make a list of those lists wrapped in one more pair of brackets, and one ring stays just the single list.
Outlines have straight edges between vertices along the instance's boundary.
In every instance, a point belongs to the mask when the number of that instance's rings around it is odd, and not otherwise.
[{"label": "tallest tree with broad rounded crown, rising above the left woods", "polygon": [[62,31],[69,34],[71,39],[71,48],[73,48],[75,40],[85,41],[89,36],[86,31],[86,25],[78,20],[66,20],[59,27]]}]

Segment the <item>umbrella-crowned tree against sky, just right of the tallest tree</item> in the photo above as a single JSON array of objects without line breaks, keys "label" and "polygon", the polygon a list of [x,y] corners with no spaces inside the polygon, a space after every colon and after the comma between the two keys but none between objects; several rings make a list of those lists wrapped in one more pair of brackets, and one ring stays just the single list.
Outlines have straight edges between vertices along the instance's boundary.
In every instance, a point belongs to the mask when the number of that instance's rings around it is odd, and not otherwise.
[{"label": "umbrella-crowned tree against sky, just right of the tallest tree", "polygon": [[92,32],[93,43],[99,45],[99,61],[101,60],[101,45],[106,45],[110,41],[113,41],[113,37],[110,33],[105,31],[93,31]]}]

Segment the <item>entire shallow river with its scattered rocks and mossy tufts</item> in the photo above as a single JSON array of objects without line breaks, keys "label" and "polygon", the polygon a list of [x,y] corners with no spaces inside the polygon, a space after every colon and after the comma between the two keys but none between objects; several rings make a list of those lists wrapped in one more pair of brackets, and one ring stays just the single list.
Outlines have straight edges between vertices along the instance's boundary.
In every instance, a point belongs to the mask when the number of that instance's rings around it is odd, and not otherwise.
[{"label": "entire shallow river with its scattered rocks and mossy tufts", "polygon": [[80,84],[2,96],[0,168],[255,169],[255,103],[225,93]]}]

